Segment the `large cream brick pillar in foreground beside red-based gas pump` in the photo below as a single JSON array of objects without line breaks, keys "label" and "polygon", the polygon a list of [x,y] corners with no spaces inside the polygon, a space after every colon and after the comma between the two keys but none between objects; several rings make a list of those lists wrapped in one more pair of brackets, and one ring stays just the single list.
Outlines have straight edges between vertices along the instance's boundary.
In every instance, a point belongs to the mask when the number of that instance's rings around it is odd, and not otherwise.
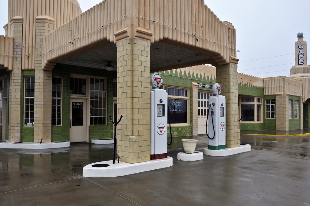
[{"label": "large cream brick pillar in foreground beside red-based gas pump", "polygon": [[150,160],[150,42],[117,43],[118,151],[123,162]]}]

